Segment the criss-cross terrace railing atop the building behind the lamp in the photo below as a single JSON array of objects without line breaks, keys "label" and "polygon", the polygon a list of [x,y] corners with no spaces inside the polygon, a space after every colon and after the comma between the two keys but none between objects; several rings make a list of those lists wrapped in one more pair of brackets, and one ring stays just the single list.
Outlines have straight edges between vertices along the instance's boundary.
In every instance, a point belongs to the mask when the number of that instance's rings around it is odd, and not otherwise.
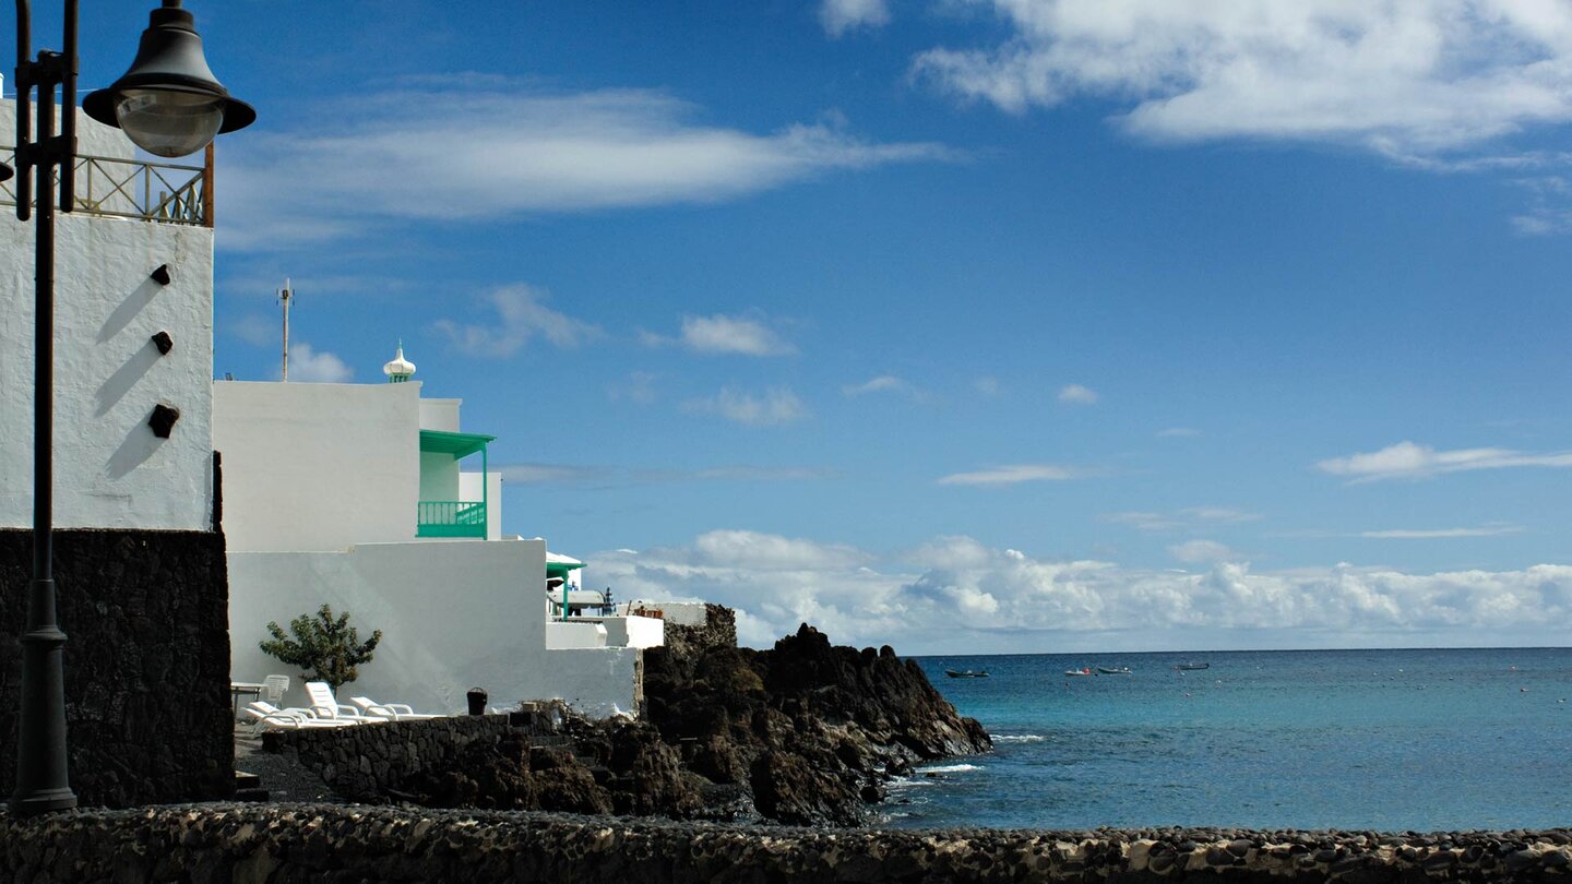
[{"label": "criss-cross terrace railing atop the building behind the lamp", "polygon": [[[16,168],[16,148],[0,146],[0,162]],[[79,156],[75,173],[79,212],[212,227],[212,164]],[[19,179],[0,182],[0,206],[16,204]]]}]

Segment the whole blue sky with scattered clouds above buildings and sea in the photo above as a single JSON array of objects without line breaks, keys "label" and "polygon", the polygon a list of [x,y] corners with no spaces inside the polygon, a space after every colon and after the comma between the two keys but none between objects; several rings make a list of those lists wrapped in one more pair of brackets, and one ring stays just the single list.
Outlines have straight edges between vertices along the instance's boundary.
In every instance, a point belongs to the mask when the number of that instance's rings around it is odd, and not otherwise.
[{"label": "whole blue sky with scattered clouds above buildings and sea", "polygon": [[1563,3],[189,6],[259,113],[215,371],[277,376],[286,275],[292,379],[402,338],[591,585],[909,653],[1564,643]]}]

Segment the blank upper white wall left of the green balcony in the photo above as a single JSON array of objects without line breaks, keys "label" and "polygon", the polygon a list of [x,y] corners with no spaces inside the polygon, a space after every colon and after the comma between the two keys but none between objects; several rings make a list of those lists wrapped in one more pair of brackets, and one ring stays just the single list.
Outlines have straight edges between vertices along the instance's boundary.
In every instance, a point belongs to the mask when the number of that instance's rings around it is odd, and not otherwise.
[{"label": "blank upper white wall left of the green balcony", "polygon": [[219,381],[212,389],[231,552],[415,538],[418,382]]}]

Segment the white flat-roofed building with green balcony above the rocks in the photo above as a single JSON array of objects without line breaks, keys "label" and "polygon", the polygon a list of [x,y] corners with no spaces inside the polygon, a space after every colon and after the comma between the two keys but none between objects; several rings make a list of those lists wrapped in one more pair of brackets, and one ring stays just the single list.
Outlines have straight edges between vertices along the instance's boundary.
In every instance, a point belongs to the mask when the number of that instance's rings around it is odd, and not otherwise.
[{"label": "white flat-roofed building with green balcony above the rocks", "polygon": [[478,686],[498,708],[635,711],[662,621],[550,621],[547,571],[577,563],[503,536],[494,437],[461,428],[461,400],[421,398],[413,370],[399,348],[388,384],[214,384],[234,676],[294,678],[258,643],[325,602],[384,634],[354,694],[451,713]]}]

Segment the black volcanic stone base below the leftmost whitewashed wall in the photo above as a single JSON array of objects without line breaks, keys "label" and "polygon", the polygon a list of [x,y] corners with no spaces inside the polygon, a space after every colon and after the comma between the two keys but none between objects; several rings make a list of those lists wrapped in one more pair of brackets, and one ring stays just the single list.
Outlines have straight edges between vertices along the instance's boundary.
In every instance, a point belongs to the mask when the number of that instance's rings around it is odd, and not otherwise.
[{"label": "black volcanic stone base below the leftmost whitewashed wall", "polygon": [[[0,530],[0,794],[16,785],[33,533]],[[71,788],[82,805],[234,794],[223,535],[57,530]]]}]

